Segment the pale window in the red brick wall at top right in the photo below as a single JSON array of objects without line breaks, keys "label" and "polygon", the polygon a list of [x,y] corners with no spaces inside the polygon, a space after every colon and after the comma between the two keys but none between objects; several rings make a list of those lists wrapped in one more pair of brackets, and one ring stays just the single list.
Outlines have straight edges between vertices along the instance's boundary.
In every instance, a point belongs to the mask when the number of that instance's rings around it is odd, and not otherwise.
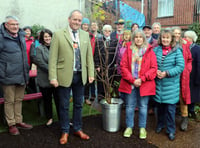
[{"label": "pale window in the red brick wall at top right", "polygon": [[158,17],[173,16],[174,0],[158,0]]}]

